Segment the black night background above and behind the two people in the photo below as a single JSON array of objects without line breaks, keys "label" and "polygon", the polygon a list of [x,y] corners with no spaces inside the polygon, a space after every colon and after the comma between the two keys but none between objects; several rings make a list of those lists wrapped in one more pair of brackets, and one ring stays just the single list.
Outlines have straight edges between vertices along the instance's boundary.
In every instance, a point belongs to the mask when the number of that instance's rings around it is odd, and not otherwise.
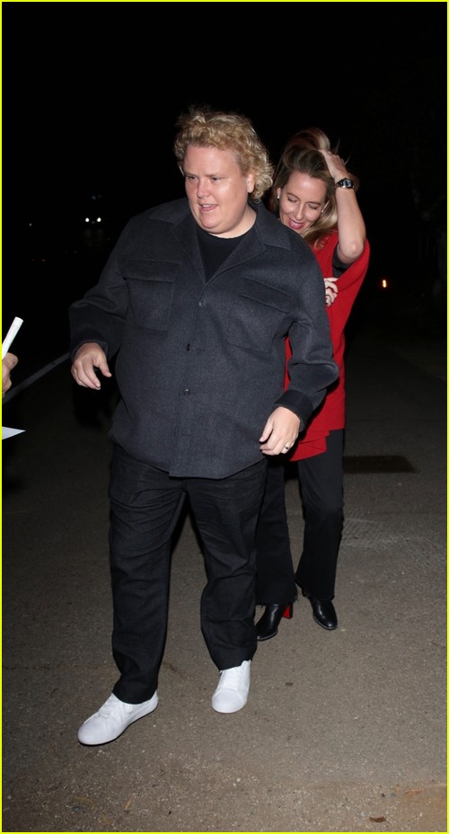
[{"label": "black night background above and behind the two people", "polygon": [[[339,140],[372,246],[351,326],[445,338],[445,3],[2,13],[3,335],[24,319],[14,383],[68,350],[67,306],[128,218],[183,196],[172,141],[190,103],[242,111],[273,162],[298,129]],[[101,226],[85,224],[92,206]]]}]

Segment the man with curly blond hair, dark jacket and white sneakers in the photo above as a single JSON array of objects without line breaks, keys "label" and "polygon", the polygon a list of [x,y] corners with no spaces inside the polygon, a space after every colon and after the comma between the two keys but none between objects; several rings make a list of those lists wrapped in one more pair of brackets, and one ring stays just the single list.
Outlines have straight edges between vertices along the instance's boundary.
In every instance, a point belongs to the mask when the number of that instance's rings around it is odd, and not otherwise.
[{"label": "man with curly blond hair, dark jacket and white sneakers", "polygon": [[272,166],[251,122],[205,108],[178,129],[187,200],[132,218],[97,286],[70,308],[75,381],[100,388],[97,371],[110,377],[117,354],[121,397],[109,435],[120,678],[80,728],[84,744],[112,741],[158,703],[171,537],[186,496],[207,570],[201,629],[220,670],[212,706],[246,704],[267,456],[291,448],[338,376],[321,271],[260,203]]}]

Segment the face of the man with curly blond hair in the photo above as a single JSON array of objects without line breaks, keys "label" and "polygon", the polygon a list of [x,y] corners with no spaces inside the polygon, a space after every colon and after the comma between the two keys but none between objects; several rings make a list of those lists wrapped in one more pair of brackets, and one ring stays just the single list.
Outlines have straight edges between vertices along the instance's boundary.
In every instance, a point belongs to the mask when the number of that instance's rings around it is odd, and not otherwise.
[{"label": "face of the man with curly blond hair", "polygon": [[218,237],[238,237],[247,231],[254,176],[242,173],[231,150],[189,145],[183,172],[198,226]]}]

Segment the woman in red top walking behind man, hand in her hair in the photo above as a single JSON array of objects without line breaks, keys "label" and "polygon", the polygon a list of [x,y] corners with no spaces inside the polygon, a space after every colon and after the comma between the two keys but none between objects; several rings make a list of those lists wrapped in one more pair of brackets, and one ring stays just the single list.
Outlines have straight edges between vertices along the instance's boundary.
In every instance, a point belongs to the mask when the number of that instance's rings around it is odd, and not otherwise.
[{"label": "woman in red top walking behind man, hand in her hair", "polygon": [[[332,599],[343,528],[345,326],[369,262],[357,187],[357,178],[339,155],[331,153],[329,138],[318,128],[302,130],[289,140],[275,172],[270,208],[310,244],[321,266],[339,379],[288,456],[288,461],[297,461],[304,507],[303,553],[295,573],[285,466],[279,458],[269,462],[257,536],[256,599],[265,606],[256,626],[258,640],[274,637],[281,618],[292,616],[295,584],[309,599],[313,619],[323,628],[337,627]],[[290,355],[287,341],[287,360]]]}]

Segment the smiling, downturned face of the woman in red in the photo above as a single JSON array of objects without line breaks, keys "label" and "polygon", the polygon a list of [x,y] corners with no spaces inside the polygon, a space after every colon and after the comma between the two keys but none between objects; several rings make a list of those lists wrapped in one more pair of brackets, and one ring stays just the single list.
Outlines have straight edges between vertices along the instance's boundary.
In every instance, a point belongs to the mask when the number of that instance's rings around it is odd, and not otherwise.
[{"label": "smiling, downturned face of the woman in red", "polygon": [[277,189],[279,217],[298,235],[313,226],[327,206],[326,183],[295,171],[284,188]]}]

